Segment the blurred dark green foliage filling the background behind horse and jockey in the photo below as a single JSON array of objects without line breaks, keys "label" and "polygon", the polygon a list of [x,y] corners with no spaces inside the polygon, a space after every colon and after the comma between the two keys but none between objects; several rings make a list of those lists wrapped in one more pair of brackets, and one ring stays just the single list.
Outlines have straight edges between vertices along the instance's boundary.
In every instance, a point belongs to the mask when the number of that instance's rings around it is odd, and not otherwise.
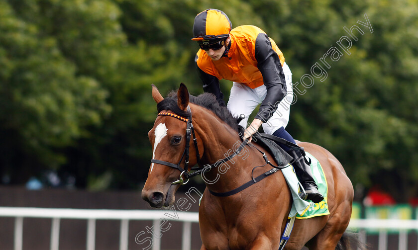
[{"label": "blurred dark green foliage filling the background behind horse and jockey", "polygon": [[[3,183],[53,170],[62,185],[139,189],[152,152],[151,83],[201,93],[194,17],[223,10],[259,26],[283,51],[296,94],[287,130],[323,146],[354,185],[383,182],[418,196],[417,0],[0,0],[0,166]],[[371,23],[373,33],[357,21]],[[343,29],[357,25],[352,39]],[[352,41],[348,50],[337,42]],[[338,60],[321,61],[336,47]],[[316,69],[317,72],[318,69]],[[225,98],[231,83],[221,82]]]}]

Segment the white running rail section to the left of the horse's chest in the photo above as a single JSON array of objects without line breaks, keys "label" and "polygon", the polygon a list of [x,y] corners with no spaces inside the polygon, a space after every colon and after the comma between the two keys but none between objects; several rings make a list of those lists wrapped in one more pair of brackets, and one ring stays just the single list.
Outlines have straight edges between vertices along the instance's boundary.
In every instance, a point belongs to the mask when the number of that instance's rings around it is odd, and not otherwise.
[{"label": "white running rail section to the left of the horse's chest", "polygon": [[[119,250],[128,250],[128,230],[130,220],[153,221],[154,235],[160,235],[160,219],[175,220],[165,214],[169,210],[107,210],[107,209],[63,209],[63,208],[26,208],[0,207],[0,217],[14,217],[14,250],[22,250],[23,218],[52,219],[50,250],[59,248],[60,219],[87,220],[86,250],[95,250],[96,220],[120,220]],[[183,224],[182,250],[190,250],[191,223],[199,222],[197,212],[177,212],[177,221]],[[160,250],[160,239],[153,237],[152,250]]]}]

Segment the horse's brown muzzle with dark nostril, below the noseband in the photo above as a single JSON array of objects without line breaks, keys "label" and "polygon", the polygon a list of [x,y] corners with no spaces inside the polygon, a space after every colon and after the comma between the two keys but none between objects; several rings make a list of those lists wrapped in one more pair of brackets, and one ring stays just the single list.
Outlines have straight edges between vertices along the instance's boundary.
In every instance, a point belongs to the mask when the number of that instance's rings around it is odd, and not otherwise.
[{"label": "horse's brown muzzle with dark nostril, below the noseband", "polygon": [[[166,185],[167,186],[167,185]],[[142,199],[149,203],[151,207],[162,208],[174,204],[176,199],[175,193],[180,184],[170,184],[164,190],[150,190],[146,187],[142,189]]]}]

